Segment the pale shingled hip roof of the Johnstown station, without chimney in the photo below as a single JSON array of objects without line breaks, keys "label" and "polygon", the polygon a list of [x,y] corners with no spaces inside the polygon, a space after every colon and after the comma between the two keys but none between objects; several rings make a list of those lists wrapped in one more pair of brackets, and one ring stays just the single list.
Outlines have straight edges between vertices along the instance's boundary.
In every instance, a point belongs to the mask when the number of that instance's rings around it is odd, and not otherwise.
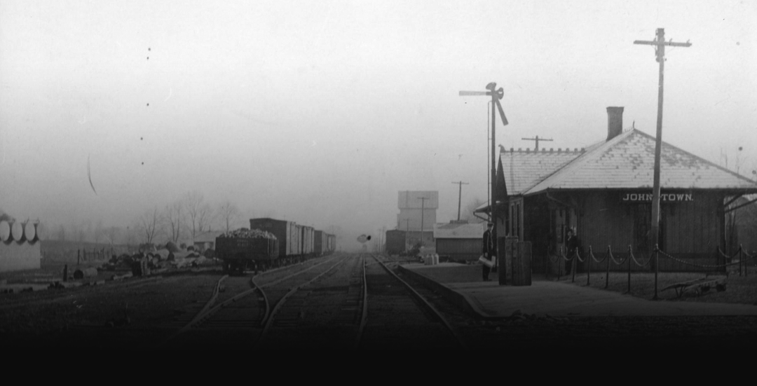
[{"label": "pale shingled hip roof of the Johnstown station, without chimney", "polygon": [[[582,153],[555,157],[544,151],[510,151],[500,154],[500,159],[509,195],[534,195],[547,190],[652,188],[654,154],[655,137],[631,129]],[[531,178],[529,173],[537,176]],[[665,142],[660,186],[757,192],[757,182]]]}]

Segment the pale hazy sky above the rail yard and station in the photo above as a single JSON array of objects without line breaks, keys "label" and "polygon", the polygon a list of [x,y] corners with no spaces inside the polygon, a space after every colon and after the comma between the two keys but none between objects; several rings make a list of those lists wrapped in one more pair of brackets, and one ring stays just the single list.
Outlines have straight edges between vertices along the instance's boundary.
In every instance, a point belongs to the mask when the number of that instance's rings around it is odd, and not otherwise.
[{"label": "pale hazy sky above the rail yard and station", "polygon": [[[0,0],[0,208],[125,226],[187,191],[352,237],[486,198],[497,144],[581,148],[606,107],[663,139],[757,167],[757,2],[35,2]],[[148,59],[149,57],[149,59]],[[148,106],[149,104],[149,106]],[[92,191],[87,178],[90,163]],[[749,171],[745,173],[744,168]]]}]

